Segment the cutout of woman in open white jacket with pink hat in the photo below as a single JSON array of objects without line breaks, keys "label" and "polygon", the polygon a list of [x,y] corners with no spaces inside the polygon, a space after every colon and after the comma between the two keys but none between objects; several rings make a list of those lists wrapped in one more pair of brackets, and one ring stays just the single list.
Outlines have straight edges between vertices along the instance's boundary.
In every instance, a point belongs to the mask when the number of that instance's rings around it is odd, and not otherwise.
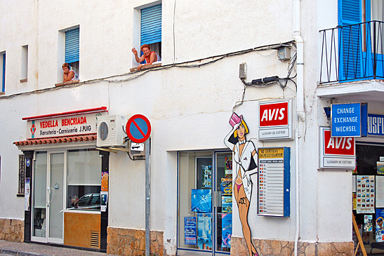
[{"label": "cutout of woman in open white jacket with pink hat", "polygon": [[258,256],[258,251],[252,244],[251,229],[248,224],[248,210],[251,202],[252,180],[250,175],[257,173],[256,148],[253,142],[246,140],[246,133],[249,132],[243,116],[233,113],[230,118],[230,125],[233,127],[230,133],[225,136],[224,143],[234,152],[234,198],[239,208],[239,217],[249,256]]}]

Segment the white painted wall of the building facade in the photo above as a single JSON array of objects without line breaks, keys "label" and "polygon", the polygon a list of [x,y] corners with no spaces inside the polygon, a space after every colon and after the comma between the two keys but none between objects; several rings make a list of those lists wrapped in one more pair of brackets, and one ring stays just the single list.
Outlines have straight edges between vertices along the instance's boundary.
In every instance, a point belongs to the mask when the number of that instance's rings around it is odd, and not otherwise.
[{"label": "white painted wall of the building facade", "polygon": [[[6,96],[41,88],[53,88],[62,79],[63,31],[80,27],[81,81],[126,74],[135,65],[131,48],[139,47],[140,8],[159,1],[1,1],[0,52],[7,55]],[[337,1],[301,1],[302,36],[305,41],[305,123],[300,148],[300,237],[303,241],[351,241],[350,173],[317,170],[318,126],[327,125],[322,107],[329,105],[315,95],[319,80],[319,29],[336,27]],[[162,1],[163,65],[291,41],[291,1],[241,0],[195,3]],[[7,10],[7,11],[3,11]],[[175,16],[173,16],[175,13]],[[173,23],[174,21],[174,23]],[[173,31],[174,27],[174,31]],[[28,81],[20,83],[21,46],[28,45]],[[173,45],[175,47],[173,47]],[[175,58],[174,58],[175,56]],[[208,59],[206,61],[213,60]],[[165,231],[168,253],[176,250],[177,151],[224,149],[232,111],[244,114],[248,138],[257,147],[291,147],[291,217],[256,215],[253,189],[249,223],[253,237],[293,241],[296,225],[294,141],[258,142],[258,100],[296,98],[289,82],[247,88],[239,103],[243,83],[239,63],[247,63],[247,81],[265,76],[285,77],[288,62],[277,59],[276,50],[231,56],[196,67],[171,67],[143,74],[115,76],[45,93],[0,97],[1,184],[0,217],[23,218],[23,198],[15,198],[18,187],[18,154],[12,144],[25,139],[23,116],[36,116],[76,109],[106,106],[110,114],[145,114],[152,123],[151,228]],[[202,62],[193,62],[200,64]],[[293,72],[294,74],[295,72]],[[131,79],[131,80],[127,80]],[[293,101],[293,105],[296,102]],[[381,113],[380,107],[374,107]],[[6,135],[6,136],[4,136]],[[333,179],[333,180],[332,180]],[[329,182],[332,180],[332,182]],[[337,180],[337,182],[336,182]],[[256,182],[254,182],[256,183]],[[338,197],[332,197],[338,194]],[[7,207],[3,207],[7,206]],[[339,206],[329,210],[329,206]],[[110,156],[111,227],[145,228],[144,161],[130,161],[119,152]],[[337,217],[335,217],[335,215]],[[234,206],[234,236],[242,236]],[[169,243],[167,240],[169,239]]]}]

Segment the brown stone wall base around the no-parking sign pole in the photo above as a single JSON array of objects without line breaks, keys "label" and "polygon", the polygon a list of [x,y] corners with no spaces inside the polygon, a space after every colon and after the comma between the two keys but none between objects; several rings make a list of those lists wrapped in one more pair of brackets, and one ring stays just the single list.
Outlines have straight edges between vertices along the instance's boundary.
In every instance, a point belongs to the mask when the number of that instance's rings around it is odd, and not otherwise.
[{"label": "brown stone wall base around the no-parking sign pole", "polygon": [[[114,255],[145,255],[145,230],[108,227],[107,253]],[[164,232],[150,231],[150,255],[164,256]]]}]

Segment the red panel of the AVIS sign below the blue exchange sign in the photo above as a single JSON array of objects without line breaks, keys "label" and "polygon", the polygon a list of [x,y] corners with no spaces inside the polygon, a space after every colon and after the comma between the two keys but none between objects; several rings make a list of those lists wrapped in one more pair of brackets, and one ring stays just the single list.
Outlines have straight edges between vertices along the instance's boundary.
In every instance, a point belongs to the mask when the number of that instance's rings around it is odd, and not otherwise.
[{"label": "red panel of the AVIS sign below the blue exchange sign", "polygon": [[324,130],[324,154],[355,156],[355,138],[331,137],[331,130]]}]

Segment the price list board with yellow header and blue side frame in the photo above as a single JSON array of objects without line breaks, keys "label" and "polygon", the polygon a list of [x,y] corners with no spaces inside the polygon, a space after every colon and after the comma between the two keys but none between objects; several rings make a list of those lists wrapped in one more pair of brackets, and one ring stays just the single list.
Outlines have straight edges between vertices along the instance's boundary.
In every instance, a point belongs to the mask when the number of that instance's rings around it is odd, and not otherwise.
[{"label": "price list board with yellow header and blue side frame", "polygon": [[289,217],[291,149],[258,148],[258,215]]}]

